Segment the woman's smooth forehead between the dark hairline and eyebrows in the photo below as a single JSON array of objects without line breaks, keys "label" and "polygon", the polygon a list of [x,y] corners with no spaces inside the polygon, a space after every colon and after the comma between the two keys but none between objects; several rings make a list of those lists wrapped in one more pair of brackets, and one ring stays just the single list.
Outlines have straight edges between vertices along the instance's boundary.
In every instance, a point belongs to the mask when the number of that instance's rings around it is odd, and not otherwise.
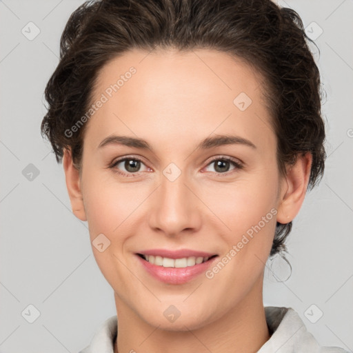
[{"label": "woman's smooth forehead between the dark hairline and eyebrows", "polygon": [[270,143],[274,136],[262,82],[254,68],[224,52],[130,50],[99,71],[92,103],[105,102],[85,135],[92,148],[112,133],[148,141],[154,134],[163,143],[236,132],[248,139],[262,134]]}]

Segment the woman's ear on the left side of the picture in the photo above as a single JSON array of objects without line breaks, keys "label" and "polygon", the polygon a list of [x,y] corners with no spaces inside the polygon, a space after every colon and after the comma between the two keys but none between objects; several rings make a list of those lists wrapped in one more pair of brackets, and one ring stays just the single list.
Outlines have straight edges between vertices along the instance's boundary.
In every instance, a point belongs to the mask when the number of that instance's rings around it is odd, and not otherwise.
[{"label": "woman's ear on the left side of the picture", "polygon": [[63,150],[63,170],[65,172],[66,188],[68,188],[72,212],[81,221],[87,221],[83,206],[79,170],[74,166],[71,151],[67,149]]}]

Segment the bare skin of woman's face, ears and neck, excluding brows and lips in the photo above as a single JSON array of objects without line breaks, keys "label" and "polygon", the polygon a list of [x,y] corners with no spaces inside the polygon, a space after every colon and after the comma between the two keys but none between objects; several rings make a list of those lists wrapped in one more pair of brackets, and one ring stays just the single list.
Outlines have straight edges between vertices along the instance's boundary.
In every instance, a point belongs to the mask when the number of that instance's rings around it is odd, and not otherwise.
[{"label": "bare skin of woman's face, ears and neck, excluding brows and lips", "polygon": [[[270,339],[263,272],[276,221],[288,223],[298,214],[312,156],[300,156],[281,177],[261,76],[239,59],[212,50],[132,50],[103,67],[94,97],[131,66],[137,73],[85,127],[81,171],[70,149],[63,157],[74,214],[88,221],[91,242],[101,233],[110,240],[105,251],[92,246],[92,252],[114,290],[114,352],[256,352]],[[233,103],[241,92],[252,99],[244,111]],[[111,134],[145,139],[153,152],[118,144],[98,148]],[[256,148],[195,150],[215,134],[243,137]],[[117,174],[129,173],[124,163],[109,168],[125,156],[143,160],[134,177]],[[230,163],[227,170],[226,164],[217,176],[214,157],[233,157],[243,168]],[[170,163],[181,170],[175,181],[163,174]],[[201,274],[182,285],[162,283],[135,255],[168,248],[221,258],[272,208],[277,214],[212,279]],[[181,312],[174,322],[163,315],[170,305]]]}]

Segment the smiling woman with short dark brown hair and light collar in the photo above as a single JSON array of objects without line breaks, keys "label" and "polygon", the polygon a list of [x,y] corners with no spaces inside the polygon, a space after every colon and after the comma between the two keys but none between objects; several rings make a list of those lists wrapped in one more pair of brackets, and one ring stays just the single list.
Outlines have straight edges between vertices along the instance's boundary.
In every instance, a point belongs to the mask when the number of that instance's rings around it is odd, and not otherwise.
[{"label": "smiling woman with short dark brown hair and light collar", "polygon": [[305,40],[270,0],[72,14],[41,128],[117,308],[82,353],[345,352],[263,306],[265,263],[324,170]]}]

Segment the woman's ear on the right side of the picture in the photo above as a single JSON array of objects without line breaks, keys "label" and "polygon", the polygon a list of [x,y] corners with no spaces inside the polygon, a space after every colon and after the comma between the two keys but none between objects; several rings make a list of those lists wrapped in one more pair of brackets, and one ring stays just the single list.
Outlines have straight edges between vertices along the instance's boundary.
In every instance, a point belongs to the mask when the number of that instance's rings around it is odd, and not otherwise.
[{"label": "woman's ear on the right side of the picture", "polygon": [[277,222],[290,223],[299,213],[305,198],[311,166],[312,154],[307,152],[299,155],[296,163],[287,168],[277,208]]}]

